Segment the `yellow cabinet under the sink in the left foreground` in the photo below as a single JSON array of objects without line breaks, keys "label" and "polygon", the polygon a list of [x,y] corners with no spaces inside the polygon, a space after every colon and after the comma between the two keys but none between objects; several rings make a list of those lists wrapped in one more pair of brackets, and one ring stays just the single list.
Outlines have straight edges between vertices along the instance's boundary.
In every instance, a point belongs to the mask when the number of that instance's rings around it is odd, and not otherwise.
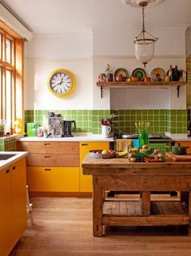
[{"label": "yellow cabinet under the sink in the left foreground", "polygon": [[0,255],[7,256],[27,226],[26,158],[0,170]]}]

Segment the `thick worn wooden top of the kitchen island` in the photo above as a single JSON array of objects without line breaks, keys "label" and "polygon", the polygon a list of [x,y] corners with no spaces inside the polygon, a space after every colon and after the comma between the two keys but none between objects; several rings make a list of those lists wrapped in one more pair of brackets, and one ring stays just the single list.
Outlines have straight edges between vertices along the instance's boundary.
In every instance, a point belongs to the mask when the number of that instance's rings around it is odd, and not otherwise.
[{"label": "thick worn wooden top of the kitchen island", "polygon": [[130,176],[190,176],[191,162],[130,163],[128,158],[90,158],[83,160],[83,174]]}]

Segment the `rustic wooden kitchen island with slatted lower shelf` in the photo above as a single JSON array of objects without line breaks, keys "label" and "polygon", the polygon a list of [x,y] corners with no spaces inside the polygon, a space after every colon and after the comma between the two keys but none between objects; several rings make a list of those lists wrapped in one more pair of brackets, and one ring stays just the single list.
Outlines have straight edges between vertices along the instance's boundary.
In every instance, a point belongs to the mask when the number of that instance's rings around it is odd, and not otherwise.
[{"label": "rustic wooden kitchen island with slatted lower shelf", "polygon": [[[127,158],[89,158],[83,174],[93,176],[93,235],[103,226],[188,225],[191,235],[191,162],[129,163]],[[107,200],[105,191],[140,191],[137,201]],[[180,191],[180,201],[151,201],[151,191]]]}]

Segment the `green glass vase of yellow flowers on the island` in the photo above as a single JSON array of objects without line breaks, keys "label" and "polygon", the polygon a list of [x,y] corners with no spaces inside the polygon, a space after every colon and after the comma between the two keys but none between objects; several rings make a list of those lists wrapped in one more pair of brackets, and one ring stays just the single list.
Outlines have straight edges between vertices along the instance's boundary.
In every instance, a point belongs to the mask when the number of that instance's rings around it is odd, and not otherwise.
[{"label": "green glass vase of yellow flowers on the island", "polygon": [[135,123],[135,127],[138,131],[138,141],[139,147],[142,148],[142,145],[149,144],[149,128],[151,127],[150,122],[138,122]]}]

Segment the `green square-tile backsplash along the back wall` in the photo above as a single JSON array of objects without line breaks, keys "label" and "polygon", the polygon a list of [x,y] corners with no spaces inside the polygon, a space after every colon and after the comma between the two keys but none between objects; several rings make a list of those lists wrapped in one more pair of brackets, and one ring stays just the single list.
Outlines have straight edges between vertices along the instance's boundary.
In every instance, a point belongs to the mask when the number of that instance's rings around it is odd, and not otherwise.
[{"label": "green square-tile backsplash along the back wall", "polygon": [[[51,111],[51,110],[50,110]],[[47,125],[49,111],[25,111],[25,122]],[[112,132],[134,133],[136,121],[151,123],[150,132],[187,133],[186,110],[70,110],[53,111],[65,120],[75,120],[77,132],[101,133],[100,120],[112,117]]]}]

